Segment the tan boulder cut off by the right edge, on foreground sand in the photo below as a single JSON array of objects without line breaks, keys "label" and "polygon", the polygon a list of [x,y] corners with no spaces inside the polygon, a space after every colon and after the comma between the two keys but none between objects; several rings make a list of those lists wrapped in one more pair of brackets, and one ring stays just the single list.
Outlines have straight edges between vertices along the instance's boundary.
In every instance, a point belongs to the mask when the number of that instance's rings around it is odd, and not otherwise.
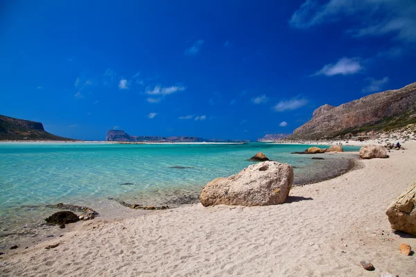
[{"label": "tan boulder cut off by the right edge, on foreground sand", "polygon": [[388,206],[385,214],[392,229],[416,235],[416,181]]}]

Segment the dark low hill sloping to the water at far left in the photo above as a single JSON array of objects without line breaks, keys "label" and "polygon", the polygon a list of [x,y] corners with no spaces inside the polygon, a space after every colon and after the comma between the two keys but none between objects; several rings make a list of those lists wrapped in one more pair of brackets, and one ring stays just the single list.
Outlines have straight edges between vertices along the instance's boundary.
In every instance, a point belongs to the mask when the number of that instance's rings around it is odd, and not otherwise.
[{"label": "dark low hill sloping to the water at far left", "polygon": [[0,141],[74,141],[45,131],[42,123],[0,115]]}]

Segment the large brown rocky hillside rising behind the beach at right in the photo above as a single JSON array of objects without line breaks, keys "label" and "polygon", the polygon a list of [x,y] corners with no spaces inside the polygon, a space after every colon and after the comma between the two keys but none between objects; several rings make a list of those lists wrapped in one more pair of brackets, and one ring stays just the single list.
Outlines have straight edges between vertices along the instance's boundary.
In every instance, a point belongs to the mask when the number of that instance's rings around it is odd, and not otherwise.
[{"label": "large brown rocky hillside rising behind the beach at right", "polygon": [[287,139],[317,140],[385,132],[416,123],[416,82],[402,89],[383,91],[338,107],[323,105],[309,122]]}]

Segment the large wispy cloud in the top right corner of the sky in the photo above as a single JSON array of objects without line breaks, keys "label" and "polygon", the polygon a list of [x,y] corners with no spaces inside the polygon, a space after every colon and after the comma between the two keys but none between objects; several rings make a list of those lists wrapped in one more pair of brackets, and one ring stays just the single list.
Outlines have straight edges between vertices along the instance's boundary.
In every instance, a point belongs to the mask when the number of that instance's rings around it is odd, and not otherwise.
[{"label": "large wispy cloud in the top right corner of the sky", "polygon": [[393,35],[403,42],[416,41],[416,2],[408,0],[331,0],[320,4],[307,0],[296,10],[289,23],[310,28],[347,18],[347,33],[354,37]]}]

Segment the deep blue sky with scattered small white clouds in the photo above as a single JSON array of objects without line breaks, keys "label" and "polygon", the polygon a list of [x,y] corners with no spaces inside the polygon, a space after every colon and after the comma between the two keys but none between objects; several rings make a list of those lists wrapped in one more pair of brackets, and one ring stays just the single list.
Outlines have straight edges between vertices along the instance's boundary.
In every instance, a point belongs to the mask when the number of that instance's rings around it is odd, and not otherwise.
[{"label": "deep blue sky with scattered small white clouds", "polygon": [[75,139],[257,139],[416,81],[416,1],[200,2],[1,1],[0,114]]}]

